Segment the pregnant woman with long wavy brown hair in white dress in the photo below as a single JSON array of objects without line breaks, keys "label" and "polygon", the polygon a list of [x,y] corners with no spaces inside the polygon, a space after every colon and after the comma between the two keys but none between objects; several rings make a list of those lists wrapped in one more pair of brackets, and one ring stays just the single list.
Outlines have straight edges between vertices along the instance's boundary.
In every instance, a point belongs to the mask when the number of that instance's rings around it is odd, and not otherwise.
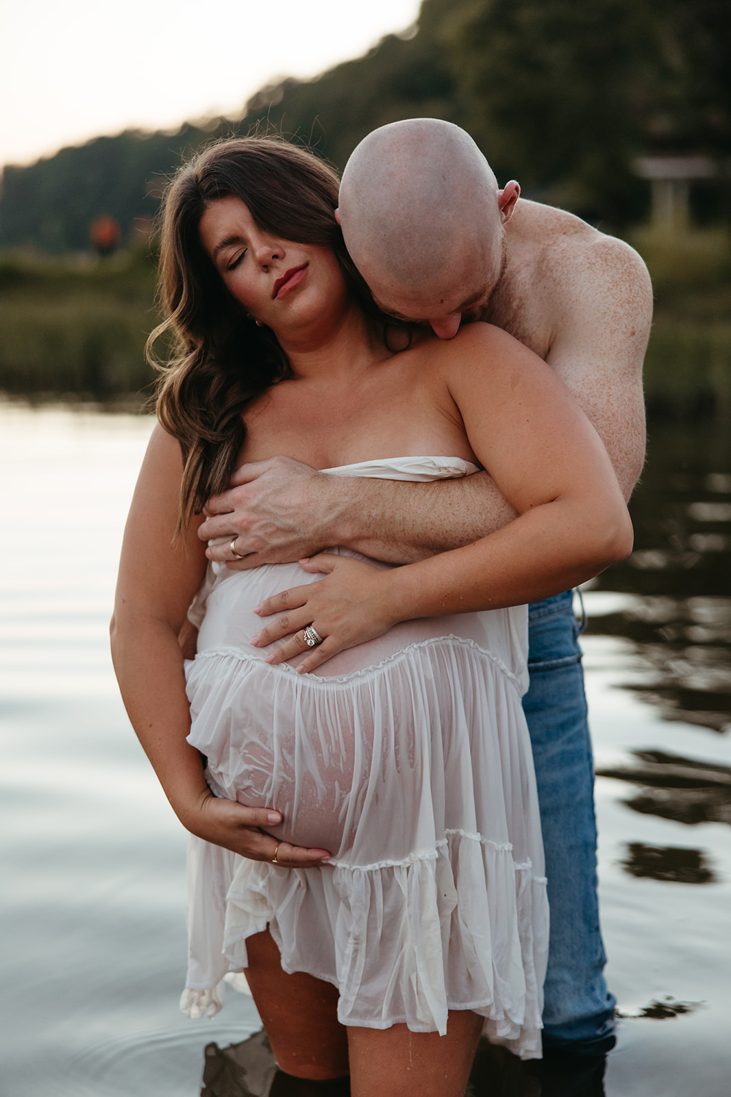
[{"label": "pregnant woman with long wavy brown hair in white dress", "polygon": [[[336,204],[327,166],[261,138],[213,146],[172,182],[162,330],[176,349],[125,532],[113,652],[193,835],[184,1008],[215,1010],[222,976],[244,971],[287,1073],[350,1073],[357,1097],[462,1097],[483,1030],[525,1056],[540,1048],[548,909],[522,603],[627,555],[631,530],[551,371],[487,325],[445,343],[379,314]],[[336,548],[207,567],[206,498],[277,454],[334,476],[483,467],[519,517],[404,567]],[[294,642],[264,645],[262,602],[307,584],[278,626]],[[334,589],[352,598],[320,613],[316,596]],[[372,638],[349,647],[355,614]],[[329,656],[310,674],[308,645]],[[270,861],[238,856],[239,804],[262,810]],[[288,844],[321,863],[293,867]]]}]

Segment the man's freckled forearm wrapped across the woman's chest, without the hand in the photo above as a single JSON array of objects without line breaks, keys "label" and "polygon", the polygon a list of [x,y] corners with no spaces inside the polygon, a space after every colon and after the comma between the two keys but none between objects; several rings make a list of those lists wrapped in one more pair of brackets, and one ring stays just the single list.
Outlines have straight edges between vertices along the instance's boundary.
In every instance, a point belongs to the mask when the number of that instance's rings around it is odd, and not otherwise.
[{"label": "man's freckled forearm wrapped across the woman's chest, without the hand", "polygon": [[392,564],[472,544],[517,514],[487,473],[430,484],[328,478],[330,544]]}]

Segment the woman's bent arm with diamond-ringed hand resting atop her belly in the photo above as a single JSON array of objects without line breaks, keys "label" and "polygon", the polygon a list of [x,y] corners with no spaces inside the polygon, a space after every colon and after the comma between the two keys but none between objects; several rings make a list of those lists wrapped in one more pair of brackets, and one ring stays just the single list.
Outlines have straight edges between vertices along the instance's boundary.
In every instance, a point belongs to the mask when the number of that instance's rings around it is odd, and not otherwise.
[{"label": "woman's bent arm with diamond-ringed hand resting atop her belly", "polygon": [[518,517],[475,544],[389,572],[319,557],[322,583],[269,599],[286,609],[261,645],[296,633],[270,656],[304,651],[310,622],[324,643],[302,659],[311,670],[398,621],[499,609],[575,586],[631,551],[625,500],[598,436],[555,373],[498,328],[470,325],[441,344],[446,383],[467,437]]}]

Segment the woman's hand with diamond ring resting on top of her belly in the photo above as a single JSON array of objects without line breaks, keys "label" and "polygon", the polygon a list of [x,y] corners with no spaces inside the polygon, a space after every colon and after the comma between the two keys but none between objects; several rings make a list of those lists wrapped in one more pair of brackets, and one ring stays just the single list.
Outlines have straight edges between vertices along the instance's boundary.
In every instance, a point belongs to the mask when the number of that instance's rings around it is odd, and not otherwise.
[{"label": "woman's hand with diamond ring resting on top of her belly", "polygon": [[[388,596],[390,570],[328,553],[301,559],[299,565],[327,578],[283,590],[256,607],[254,612],[260,617],[286,611],[251,640],[254,647],[266,647],[288,637],[266,656],[267,663],[285,663],[307,652],[297,666],[299,674],[306,674],[339,652],[382,636],[400,620]],[[308,625],[322,637],[317,647],[309,647],[305,641]]]}]

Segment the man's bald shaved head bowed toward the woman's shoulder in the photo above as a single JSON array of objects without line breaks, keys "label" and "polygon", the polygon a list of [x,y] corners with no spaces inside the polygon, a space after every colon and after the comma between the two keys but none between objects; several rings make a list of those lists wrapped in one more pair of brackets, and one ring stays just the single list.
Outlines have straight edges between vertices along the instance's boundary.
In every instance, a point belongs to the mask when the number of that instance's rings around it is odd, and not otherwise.
[{"label": "man's bald shaved head bowed toward the woman's shoulder", "polygon": [[464,129],[410,118],[374,131],[354,150],[340,188],[340,223],[379,304],[432,319],[461,313],[498,281],[506,219],[499,196]]}]

